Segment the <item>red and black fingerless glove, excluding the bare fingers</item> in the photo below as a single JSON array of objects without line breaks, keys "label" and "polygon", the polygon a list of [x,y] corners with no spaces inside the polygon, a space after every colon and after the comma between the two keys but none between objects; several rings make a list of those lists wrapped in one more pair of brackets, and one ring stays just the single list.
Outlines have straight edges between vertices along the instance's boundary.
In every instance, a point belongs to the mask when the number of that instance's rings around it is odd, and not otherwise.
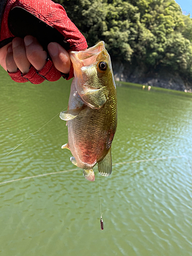
[{"label": "red and black fingerless glove, excluding the bare fingers", "polygon": [[[16,36],[24,38],[26,35],[36,37],[46,51],[52,41],[58,42],[68,52],[88,47],[86,39],[71,22],[65,9],[51,0],[3,0],[0,8],[0,48]],[[45,79],[58,80],[61,75],[70,79],[73,77],[73,67],[71,66],[69,74],[61,74],[48,57],[41,71],[37,72],[31,67],[26,75],[19,70],[9,75],[17,82],[41,83]]]}]

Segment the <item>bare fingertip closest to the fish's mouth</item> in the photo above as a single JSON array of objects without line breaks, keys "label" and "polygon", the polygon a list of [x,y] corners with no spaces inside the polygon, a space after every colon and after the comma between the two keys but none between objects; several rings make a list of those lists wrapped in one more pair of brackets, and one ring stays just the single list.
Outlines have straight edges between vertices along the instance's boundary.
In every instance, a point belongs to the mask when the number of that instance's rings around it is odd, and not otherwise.
[{"label": "bare fingertip closest to the fish's mouth", "polygon": [[55,68],[64,74],[68,74],[71,67],[69,53],[57,44],[57,42],[50,42],[48,45],[48,51]]}]

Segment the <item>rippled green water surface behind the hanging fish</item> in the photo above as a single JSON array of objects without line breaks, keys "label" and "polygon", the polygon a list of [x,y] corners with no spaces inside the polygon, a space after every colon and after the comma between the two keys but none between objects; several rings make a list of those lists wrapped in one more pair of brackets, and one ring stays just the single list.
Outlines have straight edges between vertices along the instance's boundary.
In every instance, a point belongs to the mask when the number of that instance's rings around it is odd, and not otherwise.
[{"label": "rippled green water surface behind the hanging fish", "polygon": [[[0,77],[0,255],[192,255],[190,94],[117,88],[101,231],[98,172],[89,182],[73,170],[61,150],[66,122],[52,119],[68,105],[70,82],[18,84],[2,69]],[[41,174],[50,175],[22,179]]]}]

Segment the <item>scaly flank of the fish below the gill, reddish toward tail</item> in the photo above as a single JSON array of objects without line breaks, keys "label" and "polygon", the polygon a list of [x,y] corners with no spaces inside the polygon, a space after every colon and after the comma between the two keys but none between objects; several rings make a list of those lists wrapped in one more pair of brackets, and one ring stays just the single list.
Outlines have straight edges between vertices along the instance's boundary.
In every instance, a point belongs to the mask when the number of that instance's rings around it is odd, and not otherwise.
[{"label": "scaly flank of the fish below the gill, reddish toward tail", "polygon": [[68,121],[69,148],[78,167],[90,169],[108,153],[116,129],[110,118],[104,107],[92,110],[86,106]]}]

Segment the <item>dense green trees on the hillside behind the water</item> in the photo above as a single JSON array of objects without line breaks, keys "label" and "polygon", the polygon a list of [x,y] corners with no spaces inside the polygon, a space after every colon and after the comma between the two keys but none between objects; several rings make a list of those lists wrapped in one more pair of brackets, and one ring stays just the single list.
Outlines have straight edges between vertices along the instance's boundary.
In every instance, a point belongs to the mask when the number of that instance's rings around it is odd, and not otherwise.
[{"label": "dense green trees on the hillside behind the water", "polygon": [[55,0],[91,47],[105,41],[113,60],[166,68],[192,79],[192,19],[174,0]]}]

